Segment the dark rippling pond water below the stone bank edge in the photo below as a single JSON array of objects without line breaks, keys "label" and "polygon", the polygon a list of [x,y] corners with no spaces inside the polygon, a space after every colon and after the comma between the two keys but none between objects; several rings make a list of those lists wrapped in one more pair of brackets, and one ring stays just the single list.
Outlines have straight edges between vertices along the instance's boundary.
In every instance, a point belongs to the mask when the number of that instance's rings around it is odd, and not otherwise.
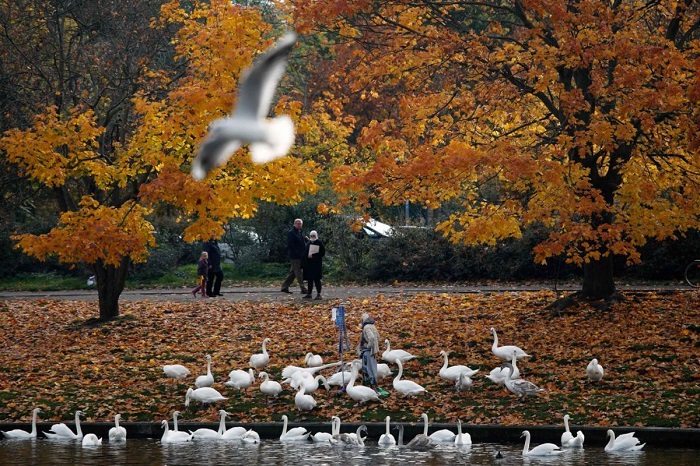
[{"label": "dark rippling pond water below the stone bank edge", "polygon": [[[502,458],[497,458],[500,452]],[[157,439],[83,447],[77,441],[2,440],[0,465],[634,465],[696,466],[700,450],[645,447],[640,452],[606,453],[602,447],[567,451],[556,458],[523,458],[522,445],[479,443],[471,447],[440,445],[427,452],[397,447],[364,447],[263,440],[259,445],[195,441],[161,445]]]}]

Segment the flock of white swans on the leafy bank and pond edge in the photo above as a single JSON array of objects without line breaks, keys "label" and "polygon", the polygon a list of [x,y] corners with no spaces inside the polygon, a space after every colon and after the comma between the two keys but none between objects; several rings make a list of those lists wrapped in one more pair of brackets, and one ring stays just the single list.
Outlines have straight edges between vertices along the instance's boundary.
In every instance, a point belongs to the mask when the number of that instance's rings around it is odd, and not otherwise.
[{"label": "flock of white swans on the leafy bank and pond edge", "polygon": [[[517,361],[523,358],[530,357],[525,351],[517,346],[498,345],[498,335],[494,328],[491,328],[493,334],[492,353],[503,362],[502,365],[493,369],[487,376],[494,383],[504,385],[513,394],[518,395],[519,399],[527,395],[540,393],[543,389],[539,388],[534,383],[520,378],[520,370],[517,366]],[[229,379],[224,385],[238,390],[247,390],[255,383],[255,370],[258,372],[258,378],[263,379],[259,389],[267,399],[277,397],[283,391],[282,384],[271,380],[270,376],[263,369],[270,362],[270,355],[267,352],[267,344],[270,343],[269,338],[265,338],[262,342],[262,351],[253,354],[249,359],[250,367],[247,370],[235,369],[229,373]],[[400,349],[391,349],[388,339],[385,340],[386,350],[382,353],[382,359],[386,363],[378,364],[378,375],[380,378],[389,377],[392,374],[388,364],[395,364],[398,367],[398,373],[394,377],[392,386],[394,390],[404,396],[415,396],[426,392],[426,389],[416,382],[402,379],[403,364],[414,359],[416,356],[407,351]],[[442,379],[455,384],[457,390],[470,389],[472,385],[472,377],[479,370],[471,369],[465,365],[449,365],[448,355],[445,351],[440,352],[443,359],[443,365],[438,372],[438,376]],[[212,388],[215,383],[214,376],[211,372],[212,358],[206,356],[207,371],[206,374],[198,376],[194,385],[196,388],[188,388],[185,394],[185,406],[189,406],[190,401],[197,401],[202,404],[212,404],[224,401],[227,397],[223,396],[216,389]],[[361,370],[362,363],[359,360],[354,360],[348,363],[346,367],[340,367],[339,370],[332,376],[326,378],[318,374],[323,369],[339,367],[341,362],[331,364],[323,364],[323,359],[319,355],[307,353],[305,357],[305,366],[286,366],[282,370],[282,383],[290,385],[296,390],[294,403],[300,411],[310,411],[317,406],[316,400],[313,398],[313,393],[322,385],[326,390],[330,390],[331,385],[344,387],[345,393],[357,401],[359,404],[370,401],[379,401],[379,395],[373,389],[362,385],[355,385],[355,381]],[[349,370],[347,370],[349,369]],[[183,380],[191,375],[191,372],[180,364],[170,364],[163,366],[163,371],[167,377],[177,380]],[[603,367],[598,364],[597,359],[593,359],[586,368],[586,375],[593,382],[600,381],[603,377]],[[14,429],[8,432],[3,432],[5,438],[10,439],[31,439],[37,437],[37,416],[41,412],[40,408],[35,408],[32,412],[32,428],[30,432]],[[260,436],[252,429],[243,427],[226,428],[226,418],[229,414],[221,409],[219,410],[220,422],[218,430],[200,428],[194,432],[178,430],[177,419],[179,411],[173,413],[173,429],[171,430],[167,420],[162,420],[163,435],[160,439],[161,443],[182,443],[192,440],[235,440],[243,443],[259,443]],[[72,431],[66,424],[59,423],[51,426],[49,431],[44,432],[44,435],[49,439],[66,439],[79,440],[83,446],[99,445],[102,439],[95,434],[88,433],[83,435],[80,426],[81,411],[75,412],[75,432]],[[389,416],[386,417],[386,431],[380,436],[378,444],[380,446],[400,446],[414,450],[425,450],[434,447],[438,444],[454,444],[456,446],[471,445],[471,436],[467,432],[463,432],[462,423],[458,421],[457,432],[449,429],[440,429],[428,434],[429,420],[427,414],[422,414],[424,423],[423,433],[411,439],[405,445],[403,444],[403,426],[395,426],[398,430],[398,441],[391,433]],[[126,440],[126,429],[119,425],[120,414],[114,418],[114,427],[109,430],[110,442],[123,442]],[[578,431],[574,436],[569,429],[569,415],[564,416],[565,431],[561,436],[561,448],[553,443],[543,443],[530,449],[530,432],[523,431],[525,437],[525,445],[523,448],[523,456],[552,456],[559,455],[564,452],[562,449],[568,448],[583,448],[584,435]],[[334,416],[331,419],[331,432],[317,432],[312,434],[303,427],[295,427],[287,429],[288,418],[282,416],[282,433],[279,440],[283,442],[322,442],[331,444],[347,444],[347,445],[364,445],[366,437],[363,437],[362,432],[366,432],[365,426],[360,426],[355,433],[340,432],[340,418]],[[609,441],[605,446],[606,451],[633,451],[640,450],[645,444],[634,436],[634,433],[622,434],[615,437],[612,430],[607,431]]]}]

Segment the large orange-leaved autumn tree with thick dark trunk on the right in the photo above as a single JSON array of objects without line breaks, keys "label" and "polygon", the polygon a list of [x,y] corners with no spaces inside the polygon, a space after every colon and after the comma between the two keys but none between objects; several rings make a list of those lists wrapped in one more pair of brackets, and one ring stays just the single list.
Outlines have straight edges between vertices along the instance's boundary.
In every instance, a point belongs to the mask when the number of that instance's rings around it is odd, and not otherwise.
[{"label": "large orange-leaved autumn tree with thick dark trunk on the right", "polygon": [[535,260],[580,265],[593,298],[614,256],[700,226],[697,2],[291,3],[357,117],[346,201],[457,202],[437,228],[469,244],[542,224]]}]

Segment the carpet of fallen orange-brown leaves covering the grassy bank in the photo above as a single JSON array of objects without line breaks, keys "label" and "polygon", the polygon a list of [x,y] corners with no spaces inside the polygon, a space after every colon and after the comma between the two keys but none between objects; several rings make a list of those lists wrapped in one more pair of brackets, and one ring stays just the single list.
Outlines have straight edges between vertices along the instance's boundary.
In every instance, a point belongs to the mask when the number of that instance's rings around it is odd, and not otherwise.
[{"label": "carpet of fallen orange-brown leaves covering the grassy bank", "polygon": [[[271,339],[267,371],[275,380],[286,365],[303,365],[309,351],[337,361],[338,331],[327,301],[123,302],[118,319],[97,326],[86,325],[97,313],[95,303],[6,301],[0,303],[0,421],[28,422],[39,406],[42,421],[70,421],[81,409],[88,422],[111,421],[116,413],[123,421],[159,421],[175,410],[183,420],[215,422],[214,408],[184,406],[188,386],[206,372],[211,354],[214,388],[229,397],[217,408],[231,413],[233,422],[279,421],[282,414],[308,421],[332,415],[380,421],[390,414],[414,422],[426,412],[435,422],[548,425],[569,413],[578,425],[700,427],[697,293],[628,293],[612,311],[584,303],[563,316],[545,309],[555,298],[542,291],[349,299],[351,345],[359,338],[360,316],[369,312],[392,349],[418,356],[406,363],[404,378],[428,394],[404,398],[385,379],[380,385],[390,395],[381,404],[357,406],[347,395],[319,389],[319,406],[303,418],[288,386],[268,404],[257,377],[248,392],[224,382],[232,369],[247,368],[265,337]],[[484,377],[500,364],[490,351],[491,327],[501,345],[519,345],[533,355],[518,365],[544,393],[519,402]],[[459,393],[438,377],[441,350],[450,365],[480,369],[471,392]],[[585,377],[593,357],[605,367],[598,384]],[[162,366],[174,363],[187,366],[191,377],[166,378]]]}]

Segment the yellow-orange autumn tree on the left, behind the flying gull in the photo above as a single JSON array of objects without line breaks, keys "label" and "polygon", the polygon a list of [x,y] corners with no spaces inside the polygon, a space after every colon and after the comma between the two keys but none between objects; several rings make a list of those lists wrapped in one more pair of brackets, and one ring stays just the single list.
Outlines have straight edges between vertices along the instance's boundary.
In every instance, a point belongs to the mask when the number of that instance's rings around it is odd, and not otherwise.
[{"label": "yellow-orange autumn tree on the left, behind the flying gull", "polygon": [[[153,209],[176,207],[188,241],[219,237],[260,199],[299,201],[317,172],[295,157],[254,166],[241,152],[195,182],[208,123],[231,110],[241,71],[278,34],[258,8],[231,2],[127,3],[0,0],[16,111],[34,115],[0,151],[60,212],[45,234],[18,232],[17,245],[91,266],[102,320],[119,314],[129,264],[155,245]],[[291,95],[277,111],[307,118]]]}]

